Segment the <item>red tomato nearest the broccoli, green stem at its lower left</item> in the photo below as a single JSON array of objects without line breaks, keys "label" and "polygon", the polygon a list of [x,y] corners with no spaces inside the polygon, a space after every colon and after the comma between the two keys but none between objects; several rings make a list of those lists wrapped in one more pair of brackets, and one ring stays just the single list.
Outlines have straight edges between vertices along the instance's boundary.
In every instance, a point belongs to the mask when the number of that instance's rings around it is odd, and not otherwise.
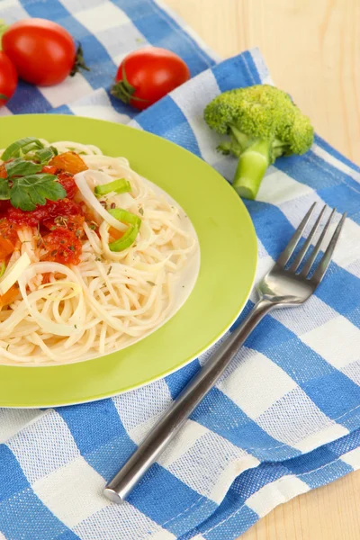
[{"label": "red tomato nearest the broccoli, green stem at its lower left", "polygon": [[189,78],[189,68],[174,52],[147,47],[130,52],[122,60],[112,95],[143,110]]}]

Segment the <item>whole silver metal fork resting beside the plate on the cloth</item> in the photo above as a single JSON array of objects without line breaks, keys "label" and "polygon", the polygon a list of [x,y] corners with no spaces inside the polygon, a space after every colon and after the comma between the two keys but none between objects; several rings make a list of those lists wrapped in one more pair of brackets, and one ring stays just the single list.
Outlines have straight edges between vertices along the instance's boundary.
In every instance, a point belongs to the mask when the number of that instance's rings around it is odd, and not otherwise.
[{"label": "whole silver metal fork resting beside the plate on the cloth", "polygon": [[[157,426],[153,428],[136,452],[131,455],[129,461],[121,468],[121,471],[107,484],[104,489],[104,495],[108,499],[120,503],[127,498],[130,491],[132,491],[142,476],[148,471],[151,464],[165,450],[166,446],[183,426],[185,420],[188,419],[195,407],[202,401],[202,398],[218,381],[220,375],[224,373],[231,360],[238,353],[238,349],[243,345],[250,332],[255,329],[266,313],[275,308],[300,305],[307,301],[316,290],[327,271],[347,214],[344,213],[338,222],[338,227],[335,229],[324,255],[310,276],[315,259],[320,252],[321,245],[336,211],[335,209],[331,211],[329,219],[321,231],[320,238],[311,251],[311,242],[315,238],[316,231],[327,210],[326,205],[320,211],[320,215],[315,221],[309,237],[306,239],[298,255],[294,258],[293,263],[288,268],[286,266],[290,262],[294,250],[299,245],[302,233],[311,220],[315,206],[316,202],[311,206],[311,209],[305,215],[298,229],[295,230],[293,238],[291,238],[283,253],[277,259],[275,266],[272,267],[260,284],[257,285],[259,300],[253,310],[250,311],[242,324],[229,335],[229,338],[226,338],[220,347],[218,347],[202,367],[202,370],[193,377],[192,381],[187,384],[184,391],[174,401],[170,409],[167,410],[164,417],[159,420]],[[307,255],[308,258],[300,270],[302,261]]]}]

